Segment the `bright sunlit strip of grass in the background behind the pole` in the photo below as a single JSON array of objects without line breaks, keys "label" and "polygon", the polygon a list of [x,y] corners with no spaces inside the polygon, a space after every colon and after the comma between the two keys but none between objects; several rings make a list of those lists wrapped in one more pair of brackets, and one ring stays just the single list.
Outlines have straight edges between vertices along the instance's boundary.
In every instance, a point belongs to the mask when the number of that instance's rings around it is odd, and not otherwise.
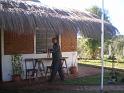
[{"label": "bright sunlit strip of grass in the background behind the pole", "polygon": [[[101,61],[100,60],[80,60],[80,64],[86,64],[86,65],[91,65],[91,66],[101,66]],[[112,61],[110,60],[104,60],[104,67],[112,68]],[[124,69],[124,62],[115,62],[114,67],[117,69]]]}]

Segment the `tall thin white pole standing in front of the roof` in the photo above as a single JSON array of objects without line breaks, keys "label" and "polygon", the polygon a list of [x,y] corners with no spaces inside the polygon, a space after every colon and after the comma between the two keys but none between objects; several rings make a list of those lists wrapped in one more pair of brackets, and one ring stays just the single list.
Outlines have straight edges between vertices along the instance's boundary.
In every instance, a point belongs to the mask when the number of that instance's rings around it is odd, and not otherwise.
[{"label": "tall thin white pole standing in front of the roof", "polygon": [[101,93],[104,85],[104,0],[102,0],[102,17],[101,17]]}]

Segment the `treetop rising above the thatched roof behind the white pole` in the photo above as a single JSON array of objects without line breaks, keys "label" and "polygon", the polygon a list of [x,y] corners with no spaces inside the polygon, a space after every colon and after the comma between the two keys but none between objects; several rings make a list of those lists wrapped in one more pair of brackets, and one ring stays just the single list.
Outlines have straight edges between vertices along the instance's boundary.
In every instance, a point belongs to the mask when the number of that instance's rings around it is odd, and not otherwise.
[{"label": "treetop rising above the thatched roof behind the white pole", "polygon": [[[86,9],[86,11],[97,15],[99,18],[101,18],[101,16],[102,16],[102,9],[97,6],[93,6],[89,9]],[[104,20],[110,22],[107,10],[104,10]]]}]

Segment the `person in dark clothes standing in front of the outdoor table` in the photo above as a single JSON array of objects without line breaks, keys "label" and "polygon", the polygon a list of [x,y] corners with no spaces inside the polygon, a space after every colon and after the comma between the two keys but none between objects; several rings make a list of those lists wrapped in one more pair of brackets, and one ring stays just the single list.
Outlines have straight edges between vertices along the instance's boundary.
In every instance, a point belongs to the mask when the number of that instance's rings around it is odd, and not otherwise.
[{"label": "person in dark clothes standing in front of the outdoor table", "polygon": [[49,82],[52,82],[55,79],[57,72],[59,73],[61,80],[64,80],[64,74],[63,74],[62,62],[61,62],[62,55],[61,55],[58,39],[53,38],[52,43],[53,43],[53,49],[50,49],[50,51],[52,52],[52,65],[51,65],[52,71]]}]

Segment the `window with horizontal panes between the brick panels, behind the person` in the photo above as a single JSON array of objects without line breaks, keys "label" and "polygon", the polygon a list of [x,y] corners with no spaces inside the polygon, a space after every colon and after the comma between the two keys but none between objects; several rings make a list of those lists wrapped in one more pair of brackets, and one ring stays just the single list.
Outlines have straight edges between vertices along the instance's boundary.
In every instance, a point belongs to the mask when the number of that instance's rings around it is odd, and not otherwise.
[{"label": "window with horizontal panes between the brick panels, behind the person", "polygon": [[55,37],[55,33],[52,32],[36,32],[36,53],[46,53],[48,49],[52,48],[52,38]]}]

